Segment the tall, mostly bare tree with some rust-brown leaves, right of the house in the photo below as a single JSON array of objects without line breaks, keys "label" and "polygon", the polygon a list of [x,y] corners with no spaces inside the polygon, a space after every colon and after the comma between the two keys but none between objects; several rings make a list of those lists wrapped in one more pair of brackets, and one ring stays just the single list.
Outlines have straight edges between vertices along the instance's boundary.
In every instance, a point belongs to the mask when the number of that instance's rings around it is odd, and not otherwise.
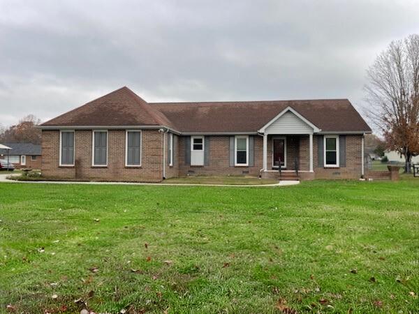
[{"label": "tall, mostly bare tree with some rust-brown leaves, right of the house", "polygon": [[419,155],[419,35],[395,40],[367,70],[369,116],[380,128],[387,148],[406,159]]}]

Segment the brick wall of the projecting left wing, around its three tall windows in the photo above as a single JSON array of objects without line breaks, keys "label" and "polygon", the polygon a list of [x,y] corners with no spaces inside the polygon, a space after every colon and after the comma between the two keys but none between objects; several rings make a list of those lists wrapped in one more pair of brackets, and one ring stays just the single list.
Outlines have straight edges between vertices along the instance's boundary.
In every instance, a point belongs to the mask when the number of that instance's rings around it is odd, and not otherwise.
[{"label": "brick wall of the projecting left wing, around its three tall windows", "polygon": [[163,133],[142,130],[141,167],[125,167],[125,130],[108,130],[108,167],[92,167],[91,136],[91,130],[76,130],[75,166],[59,167],[59,130],[43,130],[43,175],[105,181],[161,181]]}]

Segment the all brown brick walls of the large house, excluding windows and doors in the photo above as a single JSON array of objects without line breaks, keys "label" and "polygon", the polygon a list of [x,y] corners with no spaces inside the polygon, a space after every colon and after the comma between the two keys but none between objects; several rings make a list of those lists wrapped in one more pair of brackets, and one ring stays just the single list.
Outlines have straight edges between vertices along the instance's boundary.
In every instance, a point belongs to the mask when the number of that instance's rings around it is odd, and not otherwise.
[{"label": "all brown brick walls of the large house, excluding windows and doors", "polygon": [[[109,181],[161,181],[163,177],[163,133],[142,130],[142,167],[125,167],[125,130],[109,130],[108,167],[91,166],[91,130],[75,131],[75,167],[59,167],[59,130],[43,130],[42,170],[46,177],[92,179]],[[186,175],[241,175],[258,176],[263,167],[263,137],[254,135],[254,165],[230,166],[230,137],[210,136],[209,165],[185,165],[186,136],[173,136],[173,165],[168,165],[167,134],[166,178]],[[314,136],[314,175],[302,179],[358,179],[361,175],[361,135],[346,136],[346,167],[318,166],[317,140]],[[294,158],[299,159],[300,170],[309,170],[309,136],[287,135],[287,170],[293,170]],[[30,156],[27,157],[27,164]],[[267,141],[267,166],[272,169],[272,137]],[[33,167],[34,169],[36,167]],[[304,172],[302,172],[303,174]]]}]

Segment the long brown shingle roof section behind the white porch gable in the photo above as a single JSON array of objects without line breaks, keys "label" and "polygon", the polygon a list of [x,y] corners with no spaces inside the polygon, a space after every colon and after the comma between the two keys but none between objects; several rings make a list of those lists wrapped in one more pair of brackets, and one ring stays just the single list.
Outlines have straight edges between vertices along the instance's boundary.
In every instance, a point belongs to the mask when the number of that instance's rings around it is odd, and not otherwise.
[{"label": "long brown shingle roof section behind the white porch gable", "polygon": [[287,107],[323,132],[369,132],[347,99],[277,100],[222,103],[151,103],[182,132],[257,131]]}]

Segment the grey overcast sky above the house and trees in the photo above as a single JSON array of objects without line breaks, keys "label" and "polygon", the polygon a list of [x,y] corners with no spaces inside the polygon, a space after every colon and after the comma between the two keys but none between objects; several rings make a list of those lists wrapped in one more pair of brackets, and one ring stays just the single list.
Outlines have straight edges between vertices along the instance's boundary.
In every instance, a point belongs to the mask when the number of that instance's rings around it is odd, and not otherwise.
[{"label": "grey overcast sky above the house and trees", "polygon": [[348,98],[418,1],[0,0],[0,125],[127,86],[147,101]]}]

